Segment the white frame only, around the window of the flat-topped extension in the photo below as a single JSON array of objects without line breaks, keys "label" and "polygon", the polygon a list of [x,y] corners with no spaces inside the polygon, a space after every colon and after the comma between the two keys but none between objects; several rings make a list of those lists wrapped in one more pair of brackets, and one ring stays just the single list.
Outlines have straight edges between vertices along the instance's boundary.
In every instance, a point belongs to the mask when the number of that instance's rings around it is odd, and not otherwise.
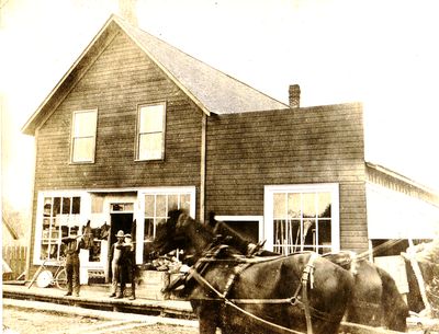
[{"label": "white frame only, around the window of the flat-topped extension", "polygon": [[288,184],[288,185],[266,185],[263,192],[263,238],[267,240],[266,247],[273,250],[273,197],[274,194],[311,194],[311,193],[330,193],[331,194],[331,217],[330,217],[330,249],[331,252],[340,250],[340,197],[338,183],[319,184]]}]

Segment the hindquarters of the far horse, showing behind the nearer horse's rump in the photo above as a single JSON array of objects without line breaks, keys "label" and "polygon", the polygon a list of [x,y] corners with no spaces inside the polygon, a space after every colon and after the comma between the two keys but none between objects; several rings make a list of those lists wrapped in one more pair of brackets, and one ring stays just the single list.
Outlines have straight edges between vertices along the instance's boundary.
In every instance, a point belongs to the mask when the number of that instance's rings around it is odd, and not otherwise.
[{"label": "hindquarters of the far horse, showing behind the nearer horse's rump", "polygon": [[350,270],[354,278],[347,321],[407,331],[408,307],[387,272],[364,258],[357,258],[351,252],[330,253],[324,257]]}]

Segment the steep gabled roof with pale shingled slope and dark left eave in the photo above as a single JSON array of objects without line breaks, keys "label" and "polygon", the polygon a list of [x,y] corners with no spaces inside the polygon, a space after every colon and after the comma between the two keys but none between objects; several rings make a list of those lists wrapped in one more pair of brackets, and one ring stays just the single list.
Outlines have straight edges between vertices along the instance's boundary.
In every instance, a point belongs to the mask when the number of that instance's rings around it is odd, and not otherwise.
[{"label": "steep gabled roof with pale shingled slope and dark left eave", "polygon": [[47,119],[87,72],[93,59],[99,57],[121,31],[128,35],[207,115],[289,108],[286,104],[212,68],[113,14],[23,126],[24,134],[34,135],[35,129]]}]

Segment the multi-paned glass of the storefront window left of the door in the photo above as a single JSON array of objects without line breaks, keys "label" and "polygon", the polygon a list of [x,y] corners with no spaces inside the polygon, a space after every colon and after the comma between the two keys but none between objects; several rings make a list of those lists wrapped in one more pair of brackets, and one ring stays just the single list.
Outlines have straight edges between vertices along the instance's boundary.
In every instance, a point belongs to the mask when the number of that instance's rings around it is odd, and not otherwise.
[{"label": "multi-paned glass of the storefront window left of the door", "polygon": [[80,233],[80,197],[45,196],[40,260],[58,261],[64,256],[61,238]]}]

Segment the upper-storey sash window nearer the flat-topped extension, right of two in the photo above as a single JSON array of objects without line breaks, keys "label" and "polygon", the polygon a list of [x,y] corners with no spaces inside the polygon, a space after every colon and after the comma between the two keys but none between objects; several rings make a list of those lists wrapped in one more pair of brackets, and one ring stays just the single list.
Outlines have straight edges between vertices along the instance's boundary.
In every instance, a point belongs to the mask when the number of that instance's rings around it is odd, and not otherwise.
[{"label": "upper-storey sash window nearer the flat-topped extension, right of two", "polygon": [[148,104],[138,107],[137,160],[159,160],[165,156],[166,104]]}]

